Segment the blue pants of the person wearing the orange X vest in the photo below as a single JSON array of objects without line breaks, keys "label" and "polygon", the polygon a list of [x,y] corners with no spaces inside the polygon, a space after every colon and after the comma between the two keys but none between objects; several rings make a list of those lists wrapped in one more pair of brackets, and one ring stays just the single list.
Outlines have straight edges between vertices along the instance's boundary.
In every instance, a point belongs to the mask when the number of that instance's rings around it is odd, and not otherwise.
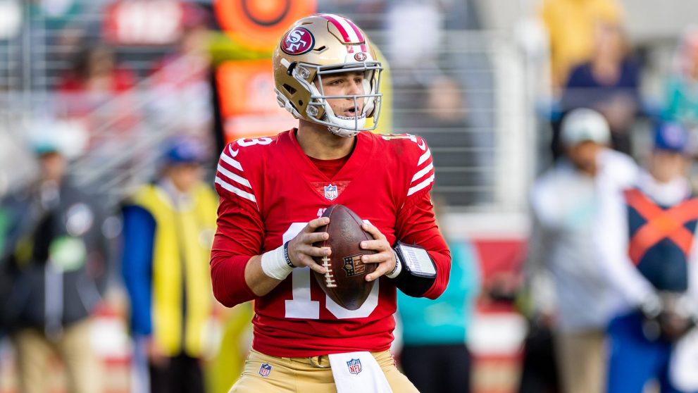
[{"label": "blue pants of the person wearing the orange X vest", "polygon": [[642,314],[619,316],[609,325],[611,344],[608,393],[642,393],[644,385],[659,381],[661,393],[682,393],[668,379],[672,344],[651,342],[642,334]]}]

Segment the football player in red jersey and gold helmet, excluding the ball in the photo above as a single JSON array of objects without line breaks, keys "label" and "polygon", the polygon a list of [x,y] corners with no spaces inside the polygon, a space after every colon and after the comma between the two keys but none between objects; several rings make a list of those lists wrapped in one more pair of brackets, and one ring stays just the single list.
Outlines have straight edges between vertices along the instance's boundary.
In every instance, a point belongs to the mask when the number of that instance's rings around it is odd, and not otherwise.
[{"label": "football player in red jersey and gold helmet, excluding the ball", "polygon": [[[213,291],[225,306],[253,300],[254,339],[231,392],[417,392],[394,366],[396,290],[435,299],[451,256],[435,223],[428,146],[409,134],[375,135],[380,75],[368,37],[339,15],[302,18],[273,57],[278,103],[297,128],[225,147],[216,173],[218,230]],[[366,119],[373,117],[373,125]],[[325,295],[313,247],[328,206],[343,204],[374,240],[377,268],[356,310]],[[400,243],[398,243],[400,242]],[[410,246],[406,246],[409,244]],[[414,260],[410,248],[428,257]],[[418,254],[418,253],[417,253]]]}]

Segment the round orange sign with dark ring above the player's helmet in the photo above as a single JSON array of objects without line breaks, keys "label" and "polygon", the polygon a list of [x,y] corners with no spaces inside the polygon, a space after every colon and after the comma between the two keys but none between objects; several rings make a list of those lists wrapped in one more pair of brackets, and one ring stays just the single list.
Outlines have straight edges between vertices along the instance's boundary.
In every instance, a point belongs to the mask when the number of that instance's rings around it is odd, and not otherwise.
[{"label": "round orange sign with dark ring above the player's helmet", "polygon": [[272,51],[286,30],[316,12],[316,0],[216,0],[220,27],[237,44]]}]

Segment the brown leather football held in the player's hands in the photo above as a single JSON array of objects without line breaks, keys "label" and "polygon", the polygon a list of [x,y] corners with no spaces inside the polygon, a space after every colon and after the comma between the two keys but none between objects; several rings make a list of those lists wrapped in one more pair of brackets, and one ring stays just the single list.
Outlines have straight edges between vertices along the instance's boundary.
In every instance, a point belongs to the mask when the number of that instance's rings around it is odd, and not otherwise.
[{"label": "brown leather football held in the player's hands", "polygon": [[316,263],[328,268],[328,273],[320,274],[313,270],[313,275],[320,288],[335,303],[347,310],[356,310],[366,301],[373,288],[373,281],[366,281],[366,275],[372,273],[378,263],[364,264],[361,256],[375,254],[376,251],[360,247],[363,240],[373,240],[373,236],[361,228],[363,220],[347,206],[332,205],[323,217],[329,217],[330,223],[319,227],[316,232],[328,232],[330,238],[313,245],[330,247],[332,254],[314,257]]}]

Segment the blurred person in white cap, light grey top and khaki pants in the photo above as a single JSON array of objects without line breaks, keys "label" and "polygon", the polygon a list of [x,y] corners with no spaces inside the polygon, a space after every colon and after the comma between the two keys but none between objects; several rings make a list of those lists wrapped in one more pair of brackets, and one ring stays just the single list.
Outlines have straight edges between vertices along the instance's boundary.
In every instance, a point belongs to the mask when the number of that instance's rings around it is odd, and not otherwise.
[{"label": "blurred person in white cap, light grey top and khaki pants", "polygon": [[530,194],[533,229],[525,281],[534,313],[553,332],[566,393],[604,391],[604,330],[613,292],[592,234],[599,230],[601,200],[631,185],[637,172],[630,157],[607,147],[610,142],[601,114],[572,111],[561,129],[565,156],[536,180]]}]

